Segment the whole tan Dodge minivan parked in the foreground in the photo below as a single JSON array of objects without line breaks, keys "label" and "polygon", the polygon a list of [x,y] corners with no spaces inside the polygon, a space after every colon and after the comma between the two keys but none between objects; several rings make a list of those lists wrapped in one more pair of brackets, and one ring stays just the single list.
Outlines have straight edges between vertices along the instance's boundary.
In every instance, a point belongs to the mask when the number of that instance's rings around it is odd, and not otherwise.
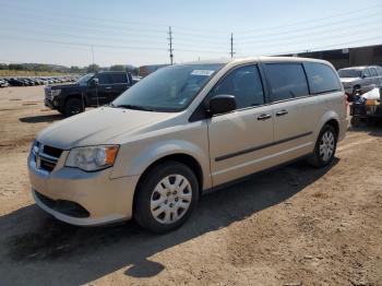
[{"label": "whole tan Dodge minivan parked in the foreground", "polygon": [[111,105],[40,132],[28,157],[32,193],[69,224],[134,217],[169,231],[207,190],[300,157],[327,166],[346,128],[344,90],[326,61],[167,67]]}]

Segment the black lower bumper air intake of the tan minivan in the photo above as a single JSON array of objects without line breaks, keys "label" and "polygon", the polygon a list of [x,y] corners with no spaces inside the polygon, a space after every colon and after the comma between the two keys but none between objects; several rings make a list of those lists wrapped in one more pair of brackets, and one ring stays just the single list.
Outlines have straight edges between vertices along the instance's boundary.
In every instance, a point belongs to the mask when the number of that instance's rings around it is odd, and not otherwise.
[{"label": "black lower bumper air intake of the tan minivan", "polygon": [[67,201],[67,200],[52,200],[37,191],[35,191],[38,200],[41,201],[46,206],[50,207],[51,210],[55,210],[56,212],[72,216],[72,217],[89,217],[91,214],[87,212],[85,207],[83,207],[81,204]]}]

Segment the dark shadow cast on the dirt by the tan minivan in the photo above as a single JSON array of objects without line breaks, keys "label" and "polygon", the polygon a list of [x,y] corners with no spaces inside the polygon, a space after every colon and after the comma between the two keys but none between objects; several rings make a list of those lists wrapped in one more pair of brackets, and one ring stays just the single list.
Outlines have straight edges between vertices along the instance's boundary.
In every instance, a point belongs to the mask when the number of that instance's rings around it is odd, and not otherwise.
[{"label": "dark shadow cast on the dirt by the tan minivan", "polygon": [[151,257],[285,202],[337,163],[315,169],[298,162],[204,195],[188,223],[166,235],[151,234],[133,222],[74,227],[36,205],[25,206],[0,217],[0,284],[82,285],[121,269],[128,276],[153,277],[166,264]]}]

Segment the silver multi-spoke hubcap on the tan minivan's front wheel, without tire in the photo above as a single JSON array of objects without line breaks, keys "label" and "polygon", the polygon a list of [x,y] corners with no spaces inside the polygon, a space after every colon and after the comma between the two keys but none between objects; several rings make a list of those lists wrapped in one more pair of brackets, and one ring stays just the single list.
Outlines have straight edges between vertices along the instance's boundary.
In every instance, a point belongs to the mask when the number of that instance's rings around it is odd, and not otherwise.
[{"label": "silver multi-spoke hubcap on the tan minivan's front wheel, without tire", "polygon": [[178,222],[189,210],[192,200],[191,184],[181,175],[170,175],[155,187],[150,208],[160,224]]}]

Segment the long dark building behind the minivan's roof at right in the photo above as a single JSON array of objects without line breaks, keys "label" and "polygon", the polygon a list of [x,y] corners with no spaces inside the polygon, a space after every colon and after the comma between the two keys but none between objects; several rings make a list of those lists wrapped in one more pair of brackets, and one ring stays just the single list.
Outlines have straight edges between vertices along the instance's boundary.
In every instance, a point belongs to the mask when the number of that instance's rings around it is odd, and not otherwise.
[{"label": "long dark building behind the minivan's roof at right", "polygon": [[336,69],[355,65],[382,65],[382,45],[344,48],[322,51],[307,51],[297,55],[283,55],[322,59],[332,62]]}]

